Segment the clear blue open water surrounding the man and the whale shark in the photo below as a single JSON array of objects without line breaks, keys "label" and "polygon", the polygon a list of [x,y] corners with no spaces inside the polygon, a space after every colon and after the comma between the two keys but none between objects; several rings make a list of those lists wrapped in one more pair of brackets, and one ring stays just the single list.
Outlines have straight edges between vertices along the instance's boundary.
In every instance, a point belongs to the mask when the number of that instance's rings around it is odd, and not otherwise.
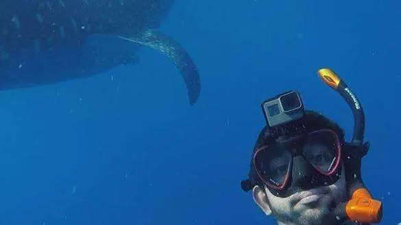
[{"label": "clear blue open water surrounding the man and the whale shark", "polygon": [[317,77],[335,70],[366,114],[363,179],[382,224],[401,222],[399,1],[176,0],[160,29],[186,48],[202,93],[173,64],[139,64],[0,95],[0,224],[275,224],[244,193],[260,102],[298,90],[350,138],[352,114]]}]

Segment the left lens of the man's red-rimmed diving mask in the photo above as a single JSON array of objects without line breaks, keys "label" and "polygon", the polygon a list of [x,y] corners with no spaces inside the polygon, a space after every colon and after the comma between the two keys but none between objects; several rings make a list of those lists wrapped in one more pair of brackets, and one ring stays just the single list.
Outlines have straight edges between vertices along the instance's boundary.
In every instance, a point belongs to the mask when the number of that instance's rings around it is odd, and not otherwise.
[{"label": "left lens of the man's red-rimmed diving mask", "polygon": [[256,171],[260,178],[276,189],[284,187],[291,163],[291,148],[269,146],[259,150],[254,157]]}]

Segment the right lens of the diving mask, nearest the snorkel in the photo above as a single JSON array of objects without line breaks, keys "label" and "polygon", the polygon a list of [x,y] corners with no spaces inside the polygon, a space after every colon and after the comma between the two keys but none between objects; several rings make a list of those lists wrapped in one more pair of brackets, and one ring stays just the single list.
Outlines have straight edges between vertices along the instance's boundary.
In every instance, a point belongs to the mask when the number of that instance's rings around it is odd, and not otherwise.
[{"label": "right lens of the diving mask, nearest the snorkel", "polygon": [[322,174],[330,174],[339,164],[339,139],[332,131],[308,134],[302,151],[306,160]]}]

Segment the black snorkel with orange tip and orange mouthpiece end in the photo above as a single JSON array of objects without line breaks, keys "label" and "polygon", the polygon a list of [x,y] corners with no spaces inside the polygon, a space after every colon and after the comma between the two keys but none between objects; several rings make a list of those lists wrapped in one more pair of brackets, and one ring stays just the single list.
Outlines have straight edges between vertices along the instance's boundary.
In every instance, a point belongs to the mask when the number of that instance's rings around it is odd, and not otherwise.
[{"label": "black snorkel with orange tip and orange mouthpiece end", "polygon": [[345,99],[354,115],[352,140],[343,146],[345,179],[350,200],[337,207],[335,211],[336,220],[341,223],[347,220],[362,224],[378,223],[382,219],[382,202],[372,198],[361,178],[361,159],[369,149],[369,143],[363,142],[365,114],[362,105],[356,95],[348,88],[348,85],[335,72],[322,68],[317,73],[324,83]]}]

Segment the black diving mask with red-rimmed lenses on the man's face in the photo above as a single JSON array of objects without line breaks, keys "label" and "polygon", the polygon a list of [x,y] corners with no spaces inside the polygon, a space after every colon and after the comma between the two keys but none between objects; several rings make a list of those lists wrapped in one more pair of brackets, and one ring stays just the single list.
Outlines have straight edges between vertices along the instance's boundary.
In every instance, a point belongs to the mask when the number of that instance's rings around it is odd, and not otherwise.
[{"label": "black diving mask with red-rimmed lenses on the man's face", "polygon": [[[315,184],[296,182],[297,175],[295,174],[295,177],[292,175],[295,157],[302,157],[302,161],[306,161],[308,166],[303,166],[303,170],[308,171],[306,171],[307,174],[302,173],[302,176],[303,178],[314,177]],[[283,193],[288,192],[285,190],[291,183],[291,186],[296,185],[298,188],[293,189],[289,194],[293,194],[298,189],[310,189],[317,185],[334,183],[339,178],[340,159],[341,144],[337,133],[330,129],[321,129],[269,146],[261,146],[255,151],[252,163],[259,180],[269,189],[273,189],[273,193],[282,196]],[[302,169],[295,172],[300,171]],[[293,182],[290,182],[291,180]]]}]

